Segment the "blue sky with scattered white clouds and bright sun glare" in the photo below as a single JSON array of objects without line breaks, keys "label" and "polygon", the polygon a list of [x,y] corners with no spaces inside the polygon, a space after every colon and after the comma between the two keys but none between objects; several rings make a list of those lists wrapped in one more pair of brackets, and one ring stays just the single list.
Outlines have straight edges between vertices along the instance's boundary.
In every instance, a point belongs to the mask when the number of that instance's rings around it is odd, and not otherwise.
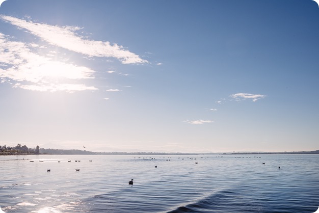
[{"label": "blue sky with scattered white clouds and bright sun glare", "polygon": [[317,150],[318,47],[312,0],[7,0],[0,145]]}]

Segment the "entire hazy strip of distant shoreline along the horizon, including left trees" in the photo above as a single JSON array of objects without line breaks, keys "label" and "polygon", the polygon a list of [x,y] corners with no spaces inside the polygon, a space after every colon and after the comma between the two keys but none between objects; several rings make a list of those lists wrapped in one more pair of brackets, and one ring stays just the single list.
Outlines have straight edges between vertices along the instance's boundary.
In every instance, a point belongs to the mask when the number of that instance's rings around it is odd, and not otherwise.
[{"label": "entire hazy strip of distant shoreline along the horizon, including left trees", "polygon": [[293,151],[293,152],[226,152],[226,153],[182,153],[182,152],[92,152],[79,149],[44,149],[37,146],[28,148],[26,145],[18,144],[15,147],[0,146],[0,155],[26,155],[26,154],[85,154],[85,155],[172,155],[172,154],[319,154],[315,151]]}]

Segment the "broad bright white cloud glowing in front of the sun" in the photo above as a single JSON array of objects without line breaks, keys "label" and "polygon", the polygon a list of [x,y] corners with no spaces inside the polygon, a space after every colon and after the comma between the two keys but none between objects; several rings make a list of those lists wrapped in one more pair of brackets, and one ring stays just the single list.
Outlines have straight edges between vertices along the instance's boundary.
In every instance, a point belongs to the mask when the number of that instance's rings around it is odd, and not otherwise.
[{"label": "broad bright white cloud glowing in front of the sun", "polygon": [[[36,44],[11,41],[0,33],[0,78],[10,82],[14,88],[35,91],[82,91],[97,90],[84,84],[74,84],[74,80],[94,78],[94,70],[54,61],[36,54]],[[72,81],[72,84],[70,83]]]}]

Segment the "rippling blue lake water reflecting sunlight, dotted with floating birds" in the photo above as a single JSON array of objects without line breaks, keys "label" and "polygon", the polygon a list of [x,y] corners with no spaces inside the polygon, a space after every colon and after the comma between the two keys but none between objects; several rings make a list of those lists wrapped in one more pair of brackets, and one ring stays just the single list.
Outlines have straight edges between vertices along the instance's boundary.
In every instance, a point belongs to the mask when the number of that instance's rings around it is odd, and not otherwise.
[{"label": "rippling blue lake water reflecting sunlight, dotted with floating birds", "polygon": [[318,205],[319,154],[0,156],[5,212],[299,213]]}]

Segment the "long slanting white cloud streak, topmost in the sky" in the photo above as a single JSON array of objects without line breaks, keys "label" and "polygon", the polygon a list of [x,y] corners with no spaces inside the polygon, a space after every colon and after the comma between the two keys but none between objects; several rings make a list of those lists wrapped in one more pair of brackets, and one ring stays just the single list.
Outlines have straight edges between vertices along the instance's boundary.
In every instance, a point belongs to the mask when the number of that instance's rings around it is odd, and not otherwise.
[{"label": "long slanting white cloud streak, topmost in the sky", "polygon": [[110,42],[84,39],[75,32],[81,30],[77,26],[54,26],[44,23],[34,23],[12,16],[0,15],[0,19],[9,22],[19,28],[26,29],[31,34],[40,37],[49,44],[56,45],[79,52],[89,57],[112,57],[120,60],[122,64],[148,63],[138,55]]}]

